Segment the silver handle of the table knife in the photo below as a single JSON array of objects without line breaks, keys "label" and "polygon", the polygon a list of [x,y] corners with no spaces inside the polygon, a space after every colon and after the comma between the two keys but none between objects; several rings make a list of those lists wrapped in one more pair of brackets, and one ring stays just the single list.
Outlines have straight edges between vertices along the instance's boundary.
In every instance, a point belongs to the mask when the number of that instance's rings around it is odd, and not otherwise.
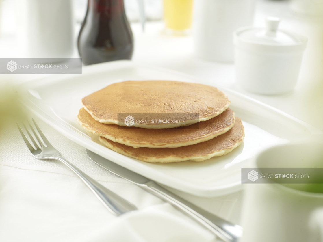
[{"label": "silver handle of the table knife", "polygon": [[195,221],[209,229],[224,241],[237,242],[242,236],[241,226],[231,224],[224,219],[195,206],[194,204],[159,186],[153,181],[141,184],[141,187],[144,190],[160,197],[162,200],[169,202],[174,207],[193,218]]}]

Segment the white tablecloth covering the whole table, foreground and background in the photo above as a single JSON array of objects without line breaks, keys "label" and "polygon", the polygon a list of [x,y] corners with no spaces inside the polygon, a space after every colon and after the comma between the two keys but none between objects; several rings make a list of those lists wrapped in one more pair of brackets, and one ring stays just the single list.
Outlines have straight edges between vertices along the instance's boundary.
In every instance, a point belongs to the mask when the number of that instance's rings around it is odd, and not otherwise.
[{"label": "white tablecloth covering the whole table, foreground and background", "polygon": [[[235,85],[232,63],[196,59],[192,53],[192,36],[166,35],[162,22],[147,23],[144,33],[139,23],[131,25],[135,39],[133,61],[210,80],[214,85],[240,91],[323,129],[322,28],[311,18],[291,14],[285,1],[259,0],[255,22],[263,25],[265,15],[282,16],[282,27],[308,36],[299,82],[290,93],[279,96],[247,93]],[[12,33],[0,38],[0,57],[17,56],[15,41]],[[1,84],[39,77],[0,76]],[[4,86],[0,86],[2,94],[10,89]],[[2,107],[7,104],[3,102],[4,99],[0,100]],[[213,234],[171,205],[94,164],[85,148],[36,119],[48,140],[63,157],[139,208],[120,217],[111,215],[67,167],[58,161],[34,158],[24,144],[14,118],[5,115],[1,121],[0,241],[215,240]],[[231,222],[240,222],[243,192],[214,198],[178,194]]]}]

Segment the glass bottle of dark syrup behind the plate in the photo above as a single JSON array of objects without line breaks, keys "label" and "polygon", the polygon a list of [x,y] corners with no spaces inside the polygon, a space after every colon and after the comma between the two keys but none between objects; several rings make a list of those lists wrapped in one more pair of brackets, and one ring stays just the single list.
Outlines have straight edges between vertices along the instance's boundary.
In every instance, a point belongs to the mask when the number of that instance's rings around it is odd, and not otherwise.
[{"label": "glass bottle of dark syrup behind the plate", "polygon": [[130,60],[133,47],[123,0],[88,0],[78,35],[78,52],[83,64]]}]

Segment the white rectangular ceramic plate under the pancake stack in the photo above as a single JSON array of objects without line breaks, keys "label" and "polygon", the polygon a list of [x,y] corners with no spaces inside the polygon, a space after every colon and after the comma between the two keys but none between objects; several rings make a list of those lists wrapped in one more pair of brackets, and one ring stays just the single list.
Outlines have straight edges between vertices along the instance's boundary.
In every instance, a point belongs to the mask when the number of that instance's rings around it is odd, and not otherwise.
[{"label": "white rectangular ceramic plate under the pancake stack", "polygon": [[[165,69],[116,61],[86,66],[82,74],[55,75],[18,87],[23,104],[36,116],[79,145],[156,182],[193,195],[215,197],[241,189],[241,168],[250,158],[270,146],[293,138],[319,133],[316,128],[247,96],[222,90],[230,108],[245,127],[243,144],[225,156],[196,163],[184,161],[153,164],[120,155],[91,139],[77,123],[81,98],[114,82],[124,80],[179,80],[199,82],[193,77]],[[139,98],[139,97],[138,97]]]}]

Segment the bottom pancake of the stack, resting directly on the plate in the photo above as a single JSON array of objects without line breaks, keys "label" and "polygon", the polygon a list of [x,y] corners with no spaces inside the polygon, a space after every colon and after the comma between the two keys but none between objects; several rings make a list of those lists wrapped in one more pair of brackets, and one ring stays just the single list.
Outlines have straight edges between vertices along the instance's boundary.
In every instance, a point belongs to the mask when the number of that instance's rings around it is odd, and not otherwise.
[{"label": "bottom pancake of the stack, resting directly on the plate", "polygon": [[158,148],[147,147],[133,148],[120,143],[113,142],[102,136],[99,140],[108,148],[146,162],[179,162],[184,160],[203,161],[213,156],[222,156],[234,148],[238,147],[245,136],[244,127],[240,118],[235,118],[234,126],[223,135],[217,136],[208,141],[190,146],[177,148]]}]

